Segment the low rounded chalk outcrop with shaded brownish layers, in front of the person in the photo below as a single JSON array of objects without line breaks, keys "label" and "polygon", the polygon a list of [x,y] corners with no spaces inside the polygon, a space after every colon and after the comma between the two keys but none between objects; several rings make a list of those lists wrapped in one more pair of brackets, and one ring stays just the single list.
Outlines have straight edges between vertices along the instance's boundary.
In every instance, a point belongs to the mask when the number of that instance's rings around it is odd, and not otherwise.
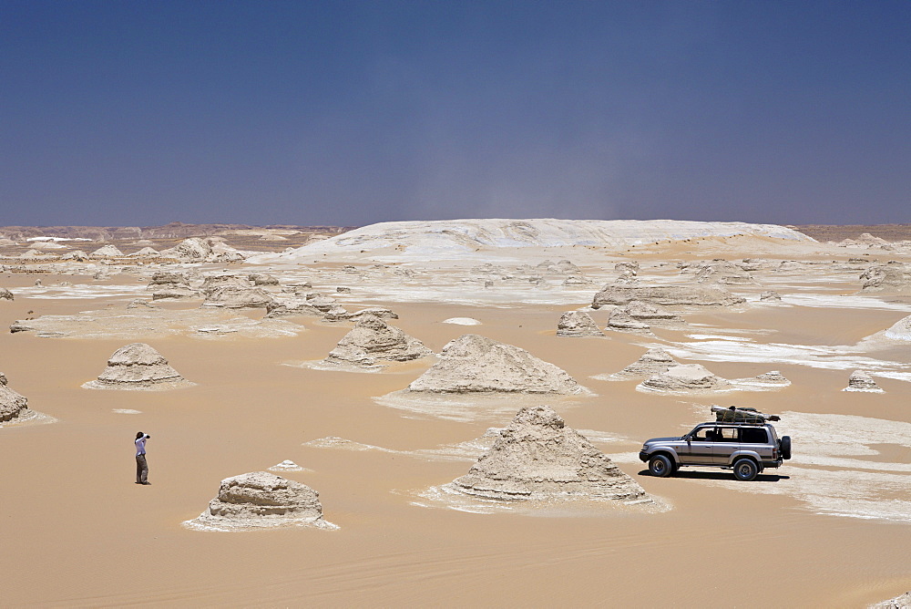
[{"label": "low rounded chalk outcrop with shaded brownish layers, in front of the person", "polygon": [[190,529],[243,531],[285,526],[336,529],[322,519],[320,494],[306,484],[268,471],[252,471],[221,480],[218,497]]}]

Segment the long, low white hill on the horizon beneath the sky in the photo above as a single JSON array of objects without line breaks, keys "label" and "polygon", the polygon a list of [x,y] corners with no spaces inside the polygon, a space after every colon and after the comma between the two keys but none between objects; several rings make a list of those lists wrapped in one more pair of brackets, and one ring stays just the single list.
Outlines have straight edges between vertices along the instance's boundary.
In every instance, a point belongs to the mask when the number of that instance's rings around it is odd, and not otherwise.
[{"label": "long, low white hill on the horizon beneath the sky", "polygon": [[783,243],[815,243],[777,224],[676,220],[436,220],[380,222],[252,263],[294,262],[323,254],[403,259],[465,258],[491,249],[597,247],[623,250],[632,245],[701,237],[758,237]]}]

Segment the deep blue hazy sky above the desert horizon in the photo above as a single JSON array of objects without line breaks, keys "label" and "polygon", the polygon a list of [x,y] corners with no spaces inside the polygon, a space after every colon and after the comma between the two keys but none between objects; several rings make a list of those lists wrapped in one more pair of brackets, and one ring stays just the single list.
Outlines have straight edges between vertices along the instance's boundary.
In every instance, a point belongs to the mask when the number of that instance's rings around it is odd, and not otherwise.
[{"label": "deep blue hazy sky above the desert horizon", "polygon": [[911,2],[0,0],[0,212],[911,222]]}]

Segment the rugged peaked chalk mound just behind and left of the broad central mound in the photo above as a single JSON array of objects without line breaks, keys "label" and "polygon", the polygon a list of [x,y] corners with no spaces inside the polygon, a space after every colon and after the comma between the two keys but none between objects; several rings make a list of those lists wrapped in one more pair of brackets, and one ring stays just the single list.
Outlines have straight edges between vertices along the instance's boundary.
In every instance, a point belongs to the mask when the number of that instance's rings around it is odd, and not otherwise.
[{"label": "rugged peaked chalk mound just behind and left of the broad central mound", "polygon": [[374,315],[364,315],[323,361],[372,367],[382,361],[407,362],[432,353],[421,341],[397,327]]}]

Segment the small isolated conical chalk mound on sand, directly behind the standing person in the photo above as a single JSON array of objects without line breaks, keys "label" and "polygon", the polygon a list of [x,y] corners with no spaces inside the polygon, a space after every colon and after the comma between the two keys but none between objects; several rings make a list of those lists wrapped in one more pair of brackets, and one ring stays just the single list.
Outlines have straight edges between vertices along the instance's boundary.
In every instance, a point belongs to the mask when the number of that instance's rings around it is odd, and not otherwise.
[{"label": "small isolated conical chalk mound on sand, directly behind the standing person", "polygon": [[121,346],[107,360],[107,368],[97,380],[89,381],[82,387],[87,389],[176,389],[195,385],[177,370],[169,366],[168,360],[145,343],[130,343]]}]

